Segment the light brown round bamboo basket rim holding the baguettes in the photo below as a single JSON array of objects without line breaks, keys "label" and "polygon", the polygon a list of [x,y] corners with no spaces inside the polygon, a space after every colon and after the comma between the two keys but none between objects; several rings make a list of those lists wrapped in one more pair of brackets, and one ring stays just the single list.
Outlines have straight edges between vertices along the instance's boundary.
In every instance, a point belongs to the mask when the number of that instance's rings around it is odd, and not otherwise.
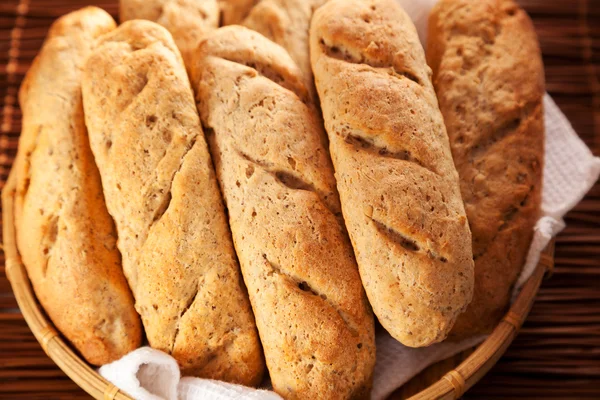
[{"label": "light brown round bamboo basket rim holding the baguettes", "polygon": [[[131,399],[127,394],[102,378],[83,359],[75,353],[63,340],[42,311],[29,283],[27,272],[21,262],[15,243],[15,226],[13,202],[15,194],[15,177],[11,173],[2,191],[2,222],[4,252],[6,255],[6,275],[23,313],[23,317],[31,328],[36,339],[48,356],[76,384],[96,399]],[[517,297],[506,316],[498,324],[494,332],[460,365],[450,371],[438,371],[443,377],[434,382],[419,382],[426,387],[411,399],[456,399],[481,379],[500,359],[511,344],[521,324],[524,322],[542,279],[551,273],[554,266],[554,242],[543,252],[533,275]],[[446,364],[445,364],[446,365]],[[444,368],[447,368],[445,366]],[[419,379],[419,378],[417,378]]]}]

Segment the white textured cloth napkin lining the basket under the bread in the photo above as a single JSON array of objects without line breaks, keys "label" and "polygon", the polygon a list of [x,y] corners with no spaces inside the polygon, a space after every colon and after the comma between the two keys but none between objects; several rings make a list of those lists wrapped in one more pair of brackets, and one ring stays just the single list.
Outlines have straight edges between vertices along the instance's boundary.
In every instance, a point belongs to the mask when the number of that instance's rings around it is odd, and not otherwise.
[{"label": "white textured cloth napkin lining the basket under the bread", "polygon": [[[425,43],[427,18],[437,0],[397,0],[412,17]],[[598,180],[600,158],[592,155],[550,96],[544,98],[546,161],[544,167],[543,217],[538,221],[527,263],[516,291],[531,276],[541,251],[564,228],[563,216]],[[473,347],[485,337],[461,343],[439,343],[422,349],[401,345],[385,331],[377,334],[377,363],[372,399],[386,398],[427,366]],[[180,379],[175,360],[157,350],[138,349],[121,360],[100,368],[107,380],[140,400],[270,400],[280,397],[269,391],[207,379]]]}]

